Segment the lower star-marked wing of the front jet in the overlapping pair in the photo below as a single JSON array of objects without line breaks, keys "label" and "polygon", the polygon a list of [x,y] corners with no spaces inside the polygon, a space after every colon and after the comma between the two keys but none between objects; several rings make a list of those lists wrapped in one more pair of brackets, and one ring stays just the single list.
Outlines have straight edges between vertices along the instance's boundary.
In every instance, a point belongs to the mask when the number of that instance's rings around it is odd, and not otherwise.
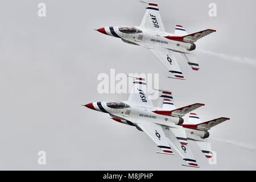
[{"label": "lower star-marked wing of the front jet in the overlapping pair", "polygon": [[160,125],[155,123],[138,123],[137,125],[163,150],[164,154],[173,153]]}]

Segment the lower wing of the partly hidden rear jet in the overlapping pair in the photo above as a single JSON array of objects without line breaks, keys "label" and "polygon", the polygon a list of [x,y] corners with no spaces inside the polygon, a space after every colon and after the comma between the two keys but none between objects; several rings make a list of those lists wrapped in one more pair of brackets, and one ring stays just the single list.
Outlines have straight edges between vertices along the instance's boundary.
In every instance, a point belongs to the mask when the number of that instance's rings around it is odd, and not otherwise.
[{"label": "lower wing of the partly hidden rear jet in the overlapping pair", "polygon": [[188,146],[185,130],[180,126],[177,126],[177,128],[162,126],[162,128],[170,146],[186,162],[186,164],[183,166],[199,167],[195,158],[193,157],[191,149]]}]

